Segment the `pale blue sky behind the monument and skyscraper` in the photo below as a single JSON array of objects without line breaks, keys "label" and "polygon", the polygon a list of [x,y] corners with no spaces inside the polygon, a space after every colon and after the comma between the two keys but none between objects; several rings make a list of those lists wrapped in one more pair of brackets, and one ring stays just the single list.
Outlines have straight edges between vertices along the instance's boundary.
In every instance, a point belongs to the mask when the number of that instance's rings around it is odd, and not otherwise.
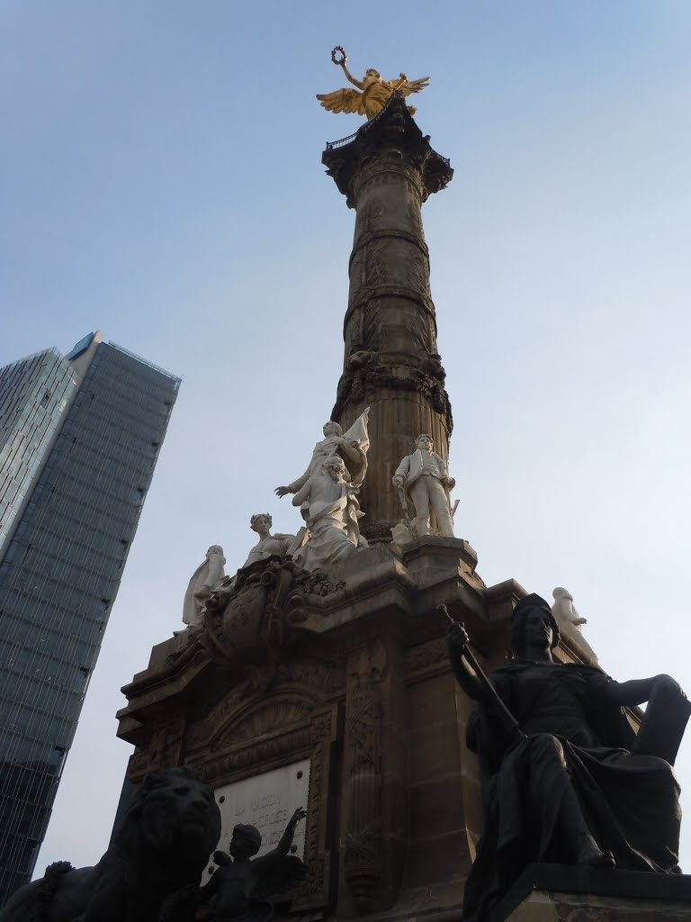
[{"label": "pale blue sky behind the monument and skyscraper", "polygon": [[[691,691],[690,40],[686,0],[0,7],[0,364],[100,328],[184,379],[40,867],[105,848],[119,687],[205,549],[235,567],[250,514],[298,526],[272,491],[333,405],[354,220],[320,163],[359,124],[314,100],[343,85],[334,44],[356,74],[431,78],[417,122],[456,174],[424,219],[480,573],[567,586],[604,668]],[[678,767],[691,790],[688,741]]]}]

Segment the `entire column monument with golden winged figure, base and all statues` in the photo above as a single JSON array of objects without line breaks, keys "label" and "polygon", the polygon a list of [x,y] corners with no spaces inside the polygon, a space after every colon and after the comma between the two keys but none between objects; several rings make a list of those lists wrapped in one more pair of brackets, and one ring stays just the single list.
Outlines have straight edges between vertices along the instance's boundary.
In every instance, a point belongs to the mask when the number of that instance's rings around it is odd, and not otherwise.
[{"label": "entire column monument with golden winged figure, base and all statues", "polygon": [[486,586],[455,537],[421,220],[453,171],[405,102],[427,77],[332,60],[355,89],[318,99],[367,122],[322,154],[355,238],[332,419],[275,489],[295,534],[253,515],[259,541],[228,575],[209,548],[188,627],[123,688],[139,788],[123,832],[3,922],[39,906],[47,922],[687,919],[671,763],[688,703],[668,676],[609,680],[566,590],[555,615],[512,579]]}]

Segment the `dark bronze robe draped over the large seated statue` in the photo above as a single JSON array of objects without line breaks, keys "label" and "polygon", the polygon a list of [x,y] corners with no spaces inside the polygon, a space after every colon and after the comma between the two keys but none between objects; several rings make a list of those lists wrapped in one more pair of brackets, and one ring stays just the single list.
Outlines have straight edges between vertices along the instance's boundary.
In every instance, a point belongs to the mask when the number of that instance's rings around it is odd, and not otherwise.
[{"label": "dark bronze robe draped over the large seated statue", "polygon": [[481,760],[486,814],[465,885],[464,922],[484,922],[529,864],[574,863],[558,822],[569,785],[617,868],[678,872],[681,810],[673,768],[630,752],[634,731],[606,699],[612,680],[591,667],[525,661],[489,678],[526,739],[511,745],[484,707],[468,725],[468,747]]}]

